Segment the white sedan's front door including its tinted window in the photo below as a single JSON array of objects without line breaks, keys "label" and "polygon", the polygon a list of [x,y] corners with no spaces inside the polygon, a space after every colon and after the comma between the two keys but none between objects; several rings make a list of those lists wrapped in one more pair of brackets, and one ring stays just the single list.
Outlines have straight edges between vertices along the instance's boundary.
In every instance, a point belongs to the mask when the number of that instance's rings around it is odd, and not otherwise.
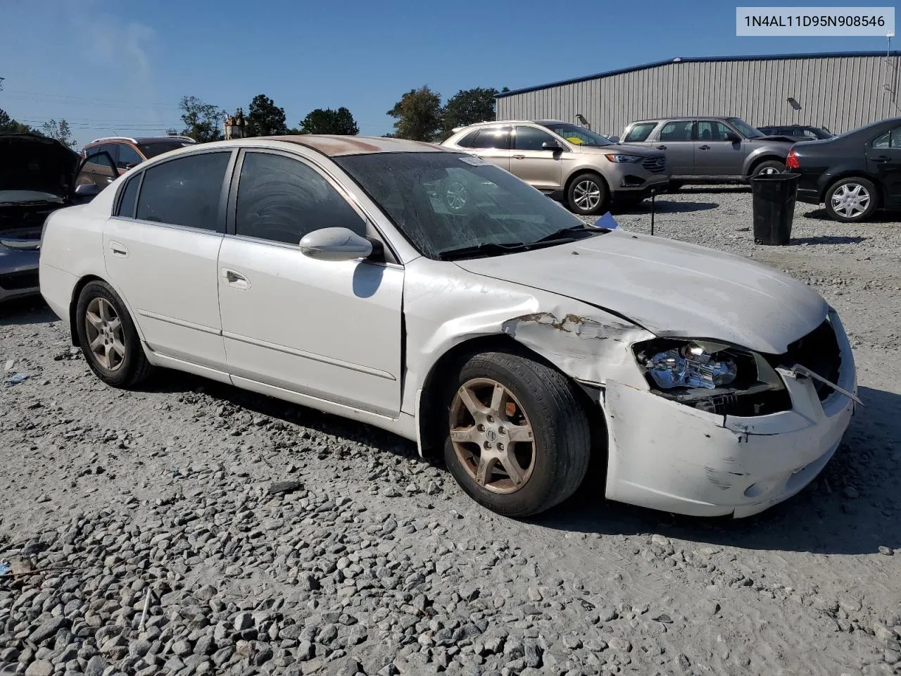
[{"label": "white sedan's front door including its tinted window", "polygon": [[306,233],[340,226],[367,235],[366,221],[296,156],[247,151],[239,164],[234,234],[218,266],[235,384],[247,379],[398,416],[404,269],[308,258],[297,246]]}]

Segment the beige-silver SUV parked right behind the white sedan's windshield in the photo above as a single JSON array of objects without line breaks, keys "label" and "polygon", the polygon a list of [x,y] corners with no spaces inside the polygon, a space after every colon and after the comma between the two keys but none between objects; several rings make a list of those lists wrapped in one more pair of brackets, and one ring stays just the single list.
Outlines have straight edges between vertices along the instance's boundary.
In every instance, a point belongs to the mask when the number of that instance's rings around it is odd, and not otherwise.
[{"label": "beige-silver SUV parked right behind the white sedan's windshield", "polygon": [[666,192],[665,155],[553,120],[470,124],[441,143],[506,169],[579,215]]}]

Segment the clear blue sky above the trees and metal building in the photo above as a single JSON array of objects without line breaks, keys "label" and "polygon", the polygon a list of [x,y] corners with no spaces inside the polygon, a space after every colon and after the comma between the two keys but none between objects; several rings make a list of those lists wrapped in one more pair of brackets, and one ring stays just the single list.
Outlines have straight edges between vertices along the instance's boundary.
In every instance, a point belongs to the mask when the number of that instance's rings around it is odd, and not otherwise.
[{"label": "clear blue sky above the trees and metal building", "polygon": [[386,111],[423,85],[446,99],[677,56],[886,48],[875,37],[736,37],[735,5],[0,0],[0,108],[35,126],[66,118],[80,145],[178,126],[181,96],[246,112],[262,93],[290,126],[345,105],[360,133],[380,135]]}]

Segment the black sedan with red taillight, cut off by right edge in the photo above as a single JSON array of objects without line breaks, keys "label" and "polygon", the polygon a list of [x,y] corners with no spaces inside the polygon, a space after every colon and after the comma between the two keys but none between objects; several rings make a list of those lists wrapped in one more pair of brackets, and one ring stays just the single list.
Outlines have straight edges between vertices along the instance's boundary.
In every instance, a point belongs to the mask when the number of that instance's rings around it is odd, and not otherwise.
[{"label": "black sedan with red taillight, cut off by right edge", "polygon": [[801,175],[797,199],[825,204],[835,221],[858,223],[877,209],[901,210],[901,117],[797,143],[786,167]]}]

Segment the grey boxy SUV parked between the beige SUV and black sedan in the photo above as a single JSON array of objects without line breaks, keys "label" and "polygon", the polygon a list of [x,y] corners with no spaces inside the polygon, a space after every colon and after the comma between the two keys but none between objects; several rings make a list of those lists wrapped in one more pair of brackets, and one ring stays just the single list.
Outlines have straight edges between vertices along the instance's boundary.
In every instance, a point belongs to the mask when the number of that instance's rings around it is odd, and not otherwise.
[{"label": "grey boxy SUV parked between the beige SUV and black sedan", "polygon": [[741,117],[694,115],[633,122],[623,142],[667,153],[670,188],[683,183],[740,183],[786,169],[794,141],[767,136]]}]

